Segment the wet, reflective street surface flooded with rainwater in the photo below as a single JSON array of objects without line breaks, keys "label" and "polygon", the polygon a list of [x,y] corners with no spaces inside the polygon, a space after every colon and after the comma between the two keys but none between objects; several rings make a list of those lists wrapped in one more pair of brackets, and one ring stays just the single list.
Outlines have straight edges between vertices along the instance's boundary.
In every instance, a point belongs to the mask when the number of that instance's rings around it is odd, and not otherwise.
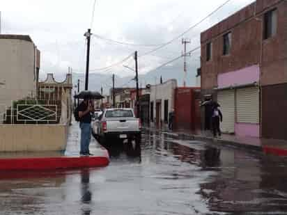
[{"label": "wet, reflective street surface flooded with rainwater", "polygon": [[1,172],[0,214],[287,214],[286,159],[148,131],[109,153],[105,168]]}]

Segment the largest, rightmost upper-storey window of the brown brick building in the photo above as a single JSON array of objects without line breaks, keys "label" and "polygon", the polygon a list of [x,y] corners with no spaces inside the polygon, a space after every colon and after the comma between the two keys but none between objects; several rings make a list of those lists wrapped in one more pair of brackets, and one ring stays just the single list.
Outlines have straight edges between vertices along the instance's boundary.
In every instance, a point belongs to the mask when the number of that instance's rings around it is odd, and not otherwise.
[{"label": "largest, rightmost upper-storey window of the brown brick building", "polygon": [[264,15],[264,40],[277,33],[277,10],[270,10]]}]

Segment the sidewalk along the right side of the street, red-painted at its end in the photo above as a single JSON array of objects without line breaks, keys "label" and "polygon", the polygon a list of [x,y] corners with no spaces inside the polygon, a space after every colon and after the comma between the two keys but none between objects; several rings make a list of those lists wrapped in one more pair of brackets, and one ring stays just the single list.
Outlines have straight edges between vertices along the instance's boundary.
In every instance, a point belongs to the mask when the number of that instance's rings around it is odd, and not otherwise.
[{"label": "sidewalk along the right side of the street, red-painted at its end", "polygon": [[[155,129],[146,127],[145,129]],[[264,152],[265,154],[274,154],[277,156],[287,156],[287,141],[274,140],[266,138],[252,138],[252,137],[238,137],[231,134],[222,134],[221,138],[213,138],[211,132],[202,131],[170,131],[169,129],[155,129],[165,134],[179,136],[180,138],[187,138],[198,141],[208,141],[208,143],[221,145],[234,145],[248,150],[256,150]]]}]

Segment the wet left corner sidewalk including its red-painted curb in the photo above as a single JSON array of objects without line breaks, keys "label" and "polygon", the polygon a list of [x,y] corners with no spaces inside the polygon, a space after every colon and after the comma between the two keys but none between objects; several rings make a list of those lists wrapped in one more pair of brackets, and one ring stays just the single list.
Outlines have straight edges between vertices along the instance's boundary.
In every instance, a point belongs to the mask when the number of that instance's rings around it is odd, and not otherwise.
[{"label": "wet left corner sidewalk including its red-painted curb", "polygon": [[[109,153],[91,138],[92,156],[79,155],[79,122],[72,122],[68,129],[65,152],[1,152],[1,170],[54,170],[66,168],[101,167],[109,164]],[[37,143],[35,143],[37,144]]]}]

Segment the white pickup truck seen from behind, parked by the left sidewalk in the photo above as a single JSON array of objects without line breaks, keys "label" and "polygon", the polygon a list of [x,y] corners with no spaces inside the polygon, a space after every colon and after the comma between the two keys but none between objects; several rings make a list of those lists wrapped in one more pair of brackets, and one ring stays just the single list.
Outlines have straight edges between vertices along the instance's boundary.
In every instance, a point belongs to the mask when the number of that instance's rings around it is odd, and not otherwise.
[{"label": "white pickup truck seen from behind, parked by the left sidewalk", "polygon": [[141,122],[132,109],[106,109],[93,123],[93,135],[102,145],[114,141],[141,141]]}]

